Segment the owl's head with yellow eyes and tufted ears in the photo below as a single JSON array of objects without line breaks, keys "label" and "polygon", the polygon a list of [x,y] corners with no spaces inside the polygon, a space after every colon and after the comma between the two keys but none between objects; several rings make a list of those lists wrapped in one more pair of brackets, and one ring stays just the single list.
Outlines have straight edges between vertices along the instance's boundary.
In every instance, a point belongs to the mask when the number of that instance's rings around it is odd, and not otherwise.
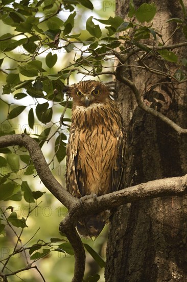
[{"label": "owl's head with yellow eyes and tufted ears", "polygon": [[97,80],[85,80],[65,88],[65,92],[72,97],[74,103],[88,107],[93,103],[104,103],[110,99],[111,89]]}]

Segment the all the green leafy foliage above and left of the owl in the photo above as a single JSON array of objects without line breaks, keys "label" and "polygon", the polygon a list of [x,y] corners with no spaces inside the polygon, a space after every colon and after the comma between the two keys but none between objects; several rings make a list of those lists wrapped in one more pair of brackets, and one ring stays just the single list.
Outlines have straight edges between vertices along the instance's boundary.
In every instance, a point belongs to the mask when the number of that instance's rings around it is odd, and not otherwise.
[{"label": "all the green leafy foliage above and left of the owl", "polygon": [[[171,18],[167,22],[175,23],[173,36],[176,30],[180,29],[187,38],[186,10],[182,1],[180,4],[183,18]],[[1,21],[4,27],[9,27],[10,30],[0,37],[0,66],[5,81],[2,94],[11,97],[10,102],[6,102],[2,96],[8,107],[3,124],[10,125],[11,120],[16,120],[22,114],[28,115],[29,129],[26,128],[24,132],[31,134],[40,148],[49,142],[54,145],[49,164],[53,164],[54,159],[61,163],[65,157],[66,134],[68,123],[71,122],[71,119],[65,116],[65,111],[71,108],[72,102],[64,97],[63,88],[68,84],[69,77],[81,73],[93,77],[105,75],[106,79],[110,79],[112,74],[115,75],[113,65],[116,59],[118,64],[128,67],[127,58],[132,52],[136,54],[135,67],[141,65],[148,71],[157,71],[177,84],[186,80],[186,58],[178,58],[173,51],[174,47],[168,49],[167,41],[164,42],[162,34],[154,28],[154,3],[144,3],[135,9],[133,1],[130,0],[128,22],[120,16],[96,18],[89,13],[83,28],[79,27],[81,23],[78,11],[91,12],[94,7],[89,0],[6,0],[0,5]],[[135,17],[136,21],[133,21],[132,17]],[[63,67],[57,71],[61,50],[68,58],[68,64],[62,64]],[[175,71],[171,72],[167,67],[165,72],[152,70],[144,63],[147,56],[159,58],[166,66],[172,63]],[[58,118],[57,112],[60,113]],[[36,123],[44,126],[39,133],[34,131]],[[15,133],[12,128],[4,127],[1,136]],[[30,156],[18,146],[13,150],[2,149],[1,153],[1,168],[8,168],[5,174],[1,174],[1,199],[20,201],[24,198],[29,205],[34,203],[34,209],[37,209],[37,200],[44,192],[32,191],[29,180],[18,182],[16,174],[22,165],[25,168],[24,175],[35,174]],[[52,250],[73,255],[73,249],[64,241],[64,237],[51,238],[50,242],[39,240],[36,244],[25,247],[29,243],[27,241],[17,249],[33,209],[29,208],[28,215],[22,218],[18,218],[12,206],[7,210],[10,213],[8,217],[2,210],[1,233],[5,234],[5,228],[9,227],[15,233],[17,241],[14,250],[3,261],[5,269],[12,256],[17,252],[25,252],[26,249],[29,250],[32,260],[30,268],[38,259],[48,256]],[[15,228],[19,229],[19,233]],[[104,267],[103,259],[87,244],[84,244],[84,247],[99,266]],[[14,274],[16,273],[15,271]],[[97,280],[98,275],[86,279]]]}]

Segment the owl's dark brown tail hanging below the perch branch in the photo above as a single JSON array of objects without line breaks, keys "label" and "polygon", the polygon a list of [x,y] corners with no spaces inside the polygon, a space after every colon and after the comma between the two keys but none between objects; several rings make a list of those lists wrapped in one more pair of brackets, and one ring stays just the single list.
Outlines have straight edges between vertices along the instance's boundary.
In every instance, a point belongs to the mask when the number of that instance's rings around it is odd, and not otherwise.
[{"label": "owl's dark brown tail hanging below the perch branch", "polygon": [[77,224],[77,231],[84,238],[97,238],[108,223],[109,211],[103,211],[84,217]]}]

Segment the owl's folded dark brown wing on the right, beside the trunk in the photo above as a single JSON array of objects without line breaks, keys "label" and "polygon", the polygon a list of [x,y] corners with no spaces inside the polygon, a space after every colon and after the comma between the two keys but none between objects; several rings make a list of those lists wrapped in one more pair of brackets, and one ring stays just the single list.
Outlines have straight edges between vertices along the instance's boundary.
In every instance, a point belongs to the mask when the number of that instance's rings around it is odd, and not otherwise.
[{"label": "owl's folded dark brown wing on the right, beside the trunk", "polygon": [[125,170],[125,143],[126,143],[126,132],[122,128],[116,131],[118,154],[114,162],[114,166],[111,171],[111,181],[109,193],[118,191],[124,188],[124,170]]}]

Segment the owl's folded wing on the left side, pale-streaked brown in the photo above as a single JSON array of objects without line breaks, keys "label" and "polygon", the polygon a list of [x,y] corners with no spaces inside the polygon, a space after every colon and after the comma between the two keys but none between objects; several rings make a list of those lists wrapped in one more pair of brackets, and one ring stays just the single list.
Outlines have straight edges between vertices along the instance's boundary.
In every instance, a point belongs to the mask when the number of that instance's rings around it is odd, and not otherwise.
[{"label": "owl's folded wing on the left side, pale-streaked brown", "polygon": [[[82,187],[81,184],[81,175],[77,173],[77,165],[78,165],[78,141],[79,141],[79,132],[72,125],[71,131],[69,133],[69,139],[67,144],[66,151],[66,188],[69,193],[71,193],[74,197],[80,198],[82,197],[82,193],[79,188]],[[81,173],[81,172],[80,172]],[[77,182],[79,179],[79,183]]]}]

